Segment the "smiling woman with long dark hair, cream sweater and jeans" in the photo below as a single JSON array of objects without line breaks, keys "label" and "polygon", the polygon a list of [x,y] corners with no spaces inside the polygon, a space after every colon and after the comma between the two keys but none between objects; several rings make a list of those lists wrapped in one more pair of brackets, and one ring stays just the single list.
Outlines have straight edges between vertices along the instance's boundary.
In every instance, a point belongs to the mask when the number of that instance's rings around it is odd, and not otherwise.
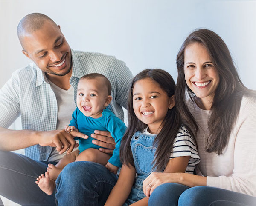
[{"label": "smiling woman with long dark hair, cream sweater and jeans", "polygon": [[207,29],[186,38],[177,69],[176,105],[201,163],[197,175],[149,175],[148,205],[256,205],[256,92],[241,82],[221,37]]}]

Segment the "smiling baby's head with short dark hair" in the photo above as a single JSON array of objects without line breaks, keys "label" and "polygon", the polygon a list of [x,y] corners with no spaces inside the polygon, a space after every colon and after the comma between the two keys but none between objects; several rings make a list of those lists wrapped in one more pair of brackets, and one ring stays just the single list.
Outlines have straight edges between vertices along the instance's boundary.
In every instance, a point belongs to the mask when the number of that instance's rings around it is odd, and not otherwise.
[{"label": "smiling baby's head with short dark hair", "polygon": [[107,77],[97,73],[81,77],[77,85],[76,104],[85,116],[101,117],[111,100],[111,83]]}]

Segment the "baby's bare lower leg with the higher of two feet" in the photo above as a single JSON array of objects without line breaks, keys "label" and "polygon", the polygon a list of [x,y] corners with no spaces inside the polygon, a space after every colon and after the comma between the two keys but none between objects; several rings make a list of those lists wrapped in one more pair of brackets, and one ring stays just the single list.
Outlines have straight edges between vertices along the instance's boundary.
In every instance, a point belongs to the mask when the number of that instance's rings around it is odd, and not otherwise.
[{"label": "baby's bare lower leg with the higher of two feet", "polygon": [[47,172],[49,172],[50,178],[52,180],[56,180],[64,166],[74,162],[78,154],[79,150],[76,150],[70,154],[66,154],[55,166],[53,164],[48,164]]}]

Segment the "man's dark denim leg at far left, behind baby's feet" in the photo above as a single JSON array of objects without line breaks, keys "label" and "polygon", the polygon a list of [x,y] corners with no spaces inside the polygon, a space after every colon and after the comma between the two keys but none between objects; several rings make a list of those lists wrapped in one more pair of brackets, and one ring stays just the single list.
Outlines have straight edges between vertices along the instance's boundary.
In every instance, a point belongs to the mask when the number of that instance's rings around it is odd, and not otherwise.
[{"label": "man's dark denim leg at far left, behind baby's feet", "polygon": [[38,175],[46,171],[48,163],[0,151],[0,195],[23,206],[55,205],[55,195],[45,194],[35,183]]}]

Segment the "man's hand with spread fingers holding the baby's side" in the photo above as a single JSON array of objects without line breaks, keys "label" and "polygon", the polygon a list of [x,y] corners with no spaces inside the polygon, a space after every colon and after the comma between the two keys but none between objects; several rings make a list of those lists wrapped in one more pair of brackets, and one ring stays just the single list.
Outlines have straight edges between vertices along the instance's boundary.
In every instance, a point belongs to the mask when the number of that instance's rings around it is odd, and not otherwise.
[{"label": "man's hand with spread fingers holding the baby's side", "polygon": [[113,154],[113,150],[116,147],[116,143],[113,137],[111,136],[110,132],[95,130],[94,134],[92,134],[91,137],[96,139],[93,140],[93,144],[108,148],[99,148],[99,151],[105,152],[107,154]]}]

